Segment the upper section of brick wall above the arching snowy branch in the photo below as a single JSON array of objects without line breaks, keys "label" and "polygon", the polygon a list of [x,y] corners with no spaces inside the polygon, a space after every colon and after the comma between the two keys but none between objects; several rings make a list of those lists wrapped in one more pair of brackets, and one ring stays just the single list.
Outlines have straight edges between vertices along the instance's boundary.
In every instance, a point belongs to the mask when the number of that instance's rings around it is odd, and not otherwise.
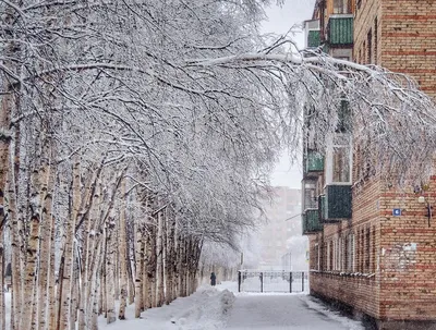
[{"label": "upper section of brick wall above the arching snowy branch", "polygon": [[[377,28],[374,27],[376,17]],[[365,54],[370,29],[373,50],[377,50],[371,62],[411,75],[423,91],[436,97],[436,1],[362,1],[354,20],[353,58],[356,62],[368,63]]]}]

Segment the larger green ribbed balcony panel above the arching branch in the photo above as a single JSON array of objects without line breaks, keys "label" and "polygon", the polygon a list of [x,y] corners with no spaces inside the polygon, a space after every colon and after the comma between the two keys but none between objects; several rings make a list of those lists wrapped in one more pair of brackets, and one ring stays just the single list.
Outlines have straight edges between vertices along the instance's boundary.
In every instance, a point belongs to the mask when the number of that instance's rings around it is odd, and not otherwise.
[{"label": "larger green ribbed balcony panel above the arching branch", "polygon": [[328,22],[328,44],[330,46],[350,46],[353,44],[353,16],[332,15]]}]

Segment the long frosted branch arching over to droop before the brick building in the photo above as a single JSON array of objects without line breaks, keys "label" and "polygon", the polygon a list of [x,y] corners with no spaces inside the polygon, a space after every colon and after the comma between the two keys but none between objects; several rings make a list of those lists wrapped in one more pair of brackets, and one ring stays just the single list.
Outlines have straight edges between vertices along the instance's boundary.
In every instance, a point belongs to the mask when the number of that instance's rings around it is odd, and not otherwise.
[{"label": "long frosted branch arching over to droop before the brick building", "polygon": [[[432,173],[436,150],[436,107],[405,74],[331,58],[319,51],[264,49],[221,58],[186,60],[186,65],[269,71],[286,84],[291,123],[299,123],[312,148],[325,150],[338,131],[342,102],[350,110],[354,151],[368,148],[377,174],[400,183]],[[272,65],[271,65],[272,63]],[[279,71],[278,71],[279,70]],[[307,111],[311,109],[310,119]],[[305,121],[301,120],[305,117]],[[307,124],[308,122],[310,124]]]}]

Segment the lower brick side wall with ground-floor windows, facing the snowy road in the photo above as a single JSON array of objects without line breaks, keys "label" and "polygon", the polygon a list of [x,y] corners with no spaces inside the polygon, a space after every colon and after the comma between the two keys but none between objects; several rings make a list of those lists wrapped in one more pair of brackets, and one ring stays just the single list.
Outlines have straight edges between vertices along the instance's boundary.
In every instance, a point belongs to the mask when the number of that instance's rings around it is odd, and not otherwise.
[{"label": "lower brick side wall with ground-floor windows, facing the snowy road", "polygon": [[[379,274],[377,272],[377,252],[379,246],[379,201],[380,183],[377,181],[367,181],[353,188],[353,219],[342,221],[337,224],[324,227],[324,235],[313,235],[310,240],[311,246],[315,242],[329,242],[338,236],[346,236],[354,233],[354,270],[342,269],[340,271],[312,271],[311,272],[311,293],[330,297],[341,303],[353,306],[356,311],[371,315],[375,318],[379,316],[378,296],[379,296]],[[371,230],[370,244],[370,267],[363,269],[359,267],[362,258],[362,252],[358,252],[358,234],[361,230]],[[373,243],[372,240],[375,240]],[[374,244],[374,245],[373,245]],[[374,247],[374,248],[373,248]],[[312,260],[311,249],[311,269],[315,265]],[[346,250],[342,248],[342,255],[346,257]],[[315,257],[314,257],[315,258]],[[324,250],[324,269],[326,269],[326,252]]]}]

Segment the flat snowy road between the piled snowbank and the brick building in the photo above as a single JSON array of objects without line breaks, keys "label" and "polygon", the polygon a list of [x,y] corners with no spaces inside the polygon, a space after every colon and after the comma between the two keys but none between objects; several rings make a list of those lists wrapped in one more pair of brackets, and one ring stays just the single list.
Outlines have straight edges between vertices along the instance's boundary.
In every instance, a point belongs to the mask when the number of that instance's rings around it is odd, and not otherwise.
[{"label": "flat snowy road between the piled snowbank and the brick building", "polygon": [[361,330],[360,322],[323,310],[307,295],[239,295],[228,330]]}]

